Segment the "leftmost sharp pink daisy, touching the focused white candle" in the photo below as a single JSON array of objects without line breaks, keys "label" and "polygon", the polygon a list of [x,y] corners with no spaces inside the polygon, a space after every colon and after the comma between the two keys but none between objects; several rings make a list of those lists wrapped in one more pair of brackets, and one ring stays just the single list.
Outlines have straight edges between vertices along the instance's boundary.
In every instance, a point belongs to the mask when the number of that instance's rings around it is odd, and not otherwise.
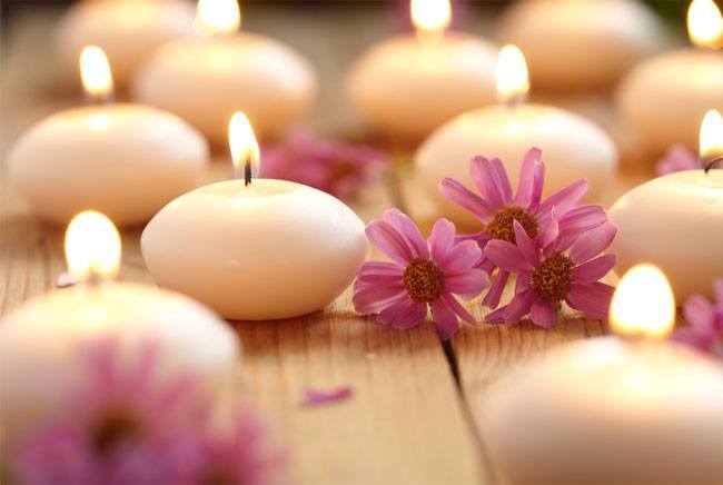
[{"label": "leftmost sharp pink daisy, touching the focused white candle", "polygon": [[487,285],[487,274],[475,268],[482,250],[474,241],[456,241],[454,224],[435,222],[425,241],[417,226],[397,209],[366,228],[369,241],[392,261],[368,261],[354,283],[354,306],[363,314],[398,329],[418,326],[432,309],[440,338],[452,337],[458,317],[475,319],[453,294],[472,298]]}]

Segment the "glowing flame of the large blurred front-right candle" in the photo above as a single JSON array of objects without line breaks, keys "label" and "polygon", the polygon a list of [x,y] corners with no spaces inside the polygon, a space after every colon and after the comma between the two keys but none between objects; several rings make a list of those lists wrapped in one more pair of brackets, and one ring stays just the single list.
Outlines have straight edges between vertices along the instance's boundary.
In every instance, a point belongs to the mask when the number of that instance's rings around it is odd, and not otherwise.
[{"label": "glowing flame of the large blurred front-right candle", "polygon": [[658,267],[643,264],[625,273],[610,307],[613,330],[660,338],[670,334],[674,320],[673,290]]}]

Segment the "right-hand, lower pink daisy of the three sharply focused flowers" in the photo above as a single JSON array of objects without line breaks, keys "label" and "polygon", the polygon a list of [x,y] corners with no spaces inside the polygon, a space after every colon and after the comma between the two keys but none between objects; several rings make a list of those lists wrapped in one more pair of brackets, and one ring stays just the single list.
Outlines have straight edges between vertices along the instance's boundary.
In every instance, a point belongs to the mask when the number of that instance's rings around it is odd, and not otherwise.
[{"label": "right-hand, lower pink daisy of the three sharply focused flowers", "polygon": [[559,237],[553,222],[537,240],[514,221],[516,245],[492,240],[485,255],[509,273],[517,274],[515,296],[508,305],[487,315],[487,321],[517,324],[529,314],[535,325],[551,328],[557,309],[566,301],[594,318],[607,318],[613,287],[598,279],[615,266],[615,255],[597,256],[610,246],[616,229],[607,222],[575,239]]}]

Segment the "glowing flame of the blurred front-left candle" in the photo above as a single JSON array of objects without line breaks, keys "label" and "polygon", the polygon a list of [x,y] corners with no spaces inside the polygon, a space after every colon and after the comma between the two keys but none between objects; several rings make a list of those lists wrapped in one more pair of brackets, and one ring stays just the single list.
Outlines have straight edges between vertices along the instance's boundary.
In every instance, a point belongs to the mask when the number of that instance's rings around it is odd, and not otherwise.
[{"label": "glowing flame of the blurred front-left candle", "polygon": [[79,280],[113,278],[120,264],[120,235],[100,212],[86,210],[66,230],[68,270]]}]

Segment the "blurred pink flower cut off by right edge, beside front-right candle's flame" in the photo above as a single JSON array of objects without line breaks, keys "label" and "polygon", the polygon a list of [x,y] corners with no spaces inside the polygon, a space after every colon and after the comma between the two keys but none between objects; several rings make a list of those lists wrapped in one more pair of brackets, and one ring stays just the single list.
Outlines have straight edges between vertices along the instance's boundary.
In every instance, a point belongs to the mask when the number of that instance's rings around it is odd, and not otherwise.
[{"label": "blurred pink flower cut off by right edge, beside front-right candle's flame", "polygon": [[699,350],[723,357],[723,278],[713,285],[715,304],[701,295],[693,295],[683,307],[687,328],[673,333],[673,340],[687,344]]}]

